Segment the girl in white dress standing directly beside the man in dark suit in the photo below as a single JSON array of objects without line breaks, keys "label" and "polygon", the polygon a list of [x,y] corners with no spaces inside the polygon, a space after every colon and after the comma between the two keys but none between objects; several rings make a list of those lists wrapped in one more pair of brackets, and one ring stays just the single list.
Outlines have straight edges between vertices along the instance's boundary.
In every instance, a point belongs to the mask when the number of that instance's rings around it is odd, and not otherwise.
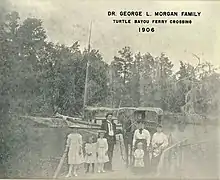
[{"label": "girl in white dress standing directly beside the man in dark suit", "polygon": [[98,161],[98,173],[105,172],[104,171],[104,163],[109,161],[108,157],[108,142],[107,139],[104,138],[105,131],[99,131],[99,138],[97,140],[97,161]]}]

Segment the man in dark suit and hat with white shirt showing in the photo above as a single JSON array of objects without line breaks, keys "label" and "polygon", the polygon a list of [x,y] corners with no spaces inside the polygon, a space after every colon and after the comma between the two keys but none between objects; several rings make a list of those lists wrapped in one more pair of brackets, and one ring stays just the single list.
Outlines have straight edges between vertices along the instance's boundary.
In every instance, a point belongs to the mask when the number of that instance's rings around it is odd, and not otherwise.
[{"label": "man in dark suit and hat with white shirt showing", "polygon": [[106,115],[106,120],[102,122],[101,129],[106,131],[105,138],[108,141],[109,162],[105,163],[105,170],[112,171],[113,151],[116,144],[116,124],[112,120],[112,113]]}]

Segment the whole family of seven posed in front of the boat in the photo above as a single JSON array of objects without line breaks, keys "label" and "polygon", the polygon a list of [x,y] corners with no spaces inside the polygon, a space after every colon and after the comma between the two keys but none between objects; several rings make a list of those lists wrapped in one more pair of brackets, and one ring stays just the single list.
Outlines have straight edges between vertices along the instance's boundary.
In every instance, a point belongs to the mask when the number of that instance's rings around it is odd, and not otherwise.
[{"label": "whole family of seven posed in front of the boat", "polygon": [[[112,114],[106,115],[101,129],[98,131],[98,138],[91,136],[83,145],[82,136],[77,128],[73,128],[67,137],[65,152],[68,153],[69,171],[66,177],[77,176],[79,165],[85,163],[85,172],[89,173],[90,167],[95,172],[103,173],[112,170],[112,158],[114,145],[116,144],[116,124],[112,121]],[[150,146],[153,150],[150,162]],[[138,128],[133,136],[133,165],[135,171],[147,171],[153,167],[154,170],[159,162],[162,151],[168,146],[168,138],[162,132],[162,126],[157,127],[157,132],[152,136],[144,127],[143,121],[138,121]],[[84,151],[83,151],[84,150]],[[150,165],[150,166],[149,166]]]}]

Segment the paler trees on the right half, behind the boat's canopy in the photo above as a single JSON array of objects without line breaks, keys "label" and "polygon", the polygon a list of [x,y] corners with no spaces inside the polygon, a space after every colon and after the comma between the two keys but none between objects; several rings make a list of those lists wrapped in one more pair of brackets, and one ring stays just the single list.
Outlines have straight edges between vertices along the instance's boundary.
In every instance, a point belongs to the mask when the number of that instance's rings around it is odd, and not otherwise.
[{"label": "paler trees on the right half, behind the boat's canopy", "polygon": [[[173,71],[171,60],[164,53],[133,55],[129,47],[118,52],[111,64],[111,86],[115,106],[154,106],[170,112],[210,114],[217,112],[219,74],[210,63],[196,67],[180,61]],[[214,83],[214,84],[213,84]]]}]

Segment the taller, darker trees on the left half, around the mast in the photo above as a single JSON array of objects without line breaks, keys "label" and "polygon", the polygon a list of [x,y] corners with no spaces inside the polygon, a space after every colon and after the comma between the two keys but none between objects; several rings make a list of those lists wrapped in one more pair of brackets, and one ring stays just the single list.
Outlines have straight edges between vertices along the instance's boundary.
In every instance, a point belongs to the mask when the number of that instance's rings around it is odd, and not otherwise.
[{"label": "taller, darker trees on the left half, around the mast", "polygon": [[11,157],[15,142],[25,142],[25,135],[17,141],[19,136],[14,133],[24,130],[15,115],[51,116],[57,110],[72,116],[81,114],[88,59],[88,103],[105,103],[108,65],[100,53],[80,51],[78,42],[67,47],[46,38],[39,19],[20,22],[19,14],[11,12],[1,21],[1,164]]}]

